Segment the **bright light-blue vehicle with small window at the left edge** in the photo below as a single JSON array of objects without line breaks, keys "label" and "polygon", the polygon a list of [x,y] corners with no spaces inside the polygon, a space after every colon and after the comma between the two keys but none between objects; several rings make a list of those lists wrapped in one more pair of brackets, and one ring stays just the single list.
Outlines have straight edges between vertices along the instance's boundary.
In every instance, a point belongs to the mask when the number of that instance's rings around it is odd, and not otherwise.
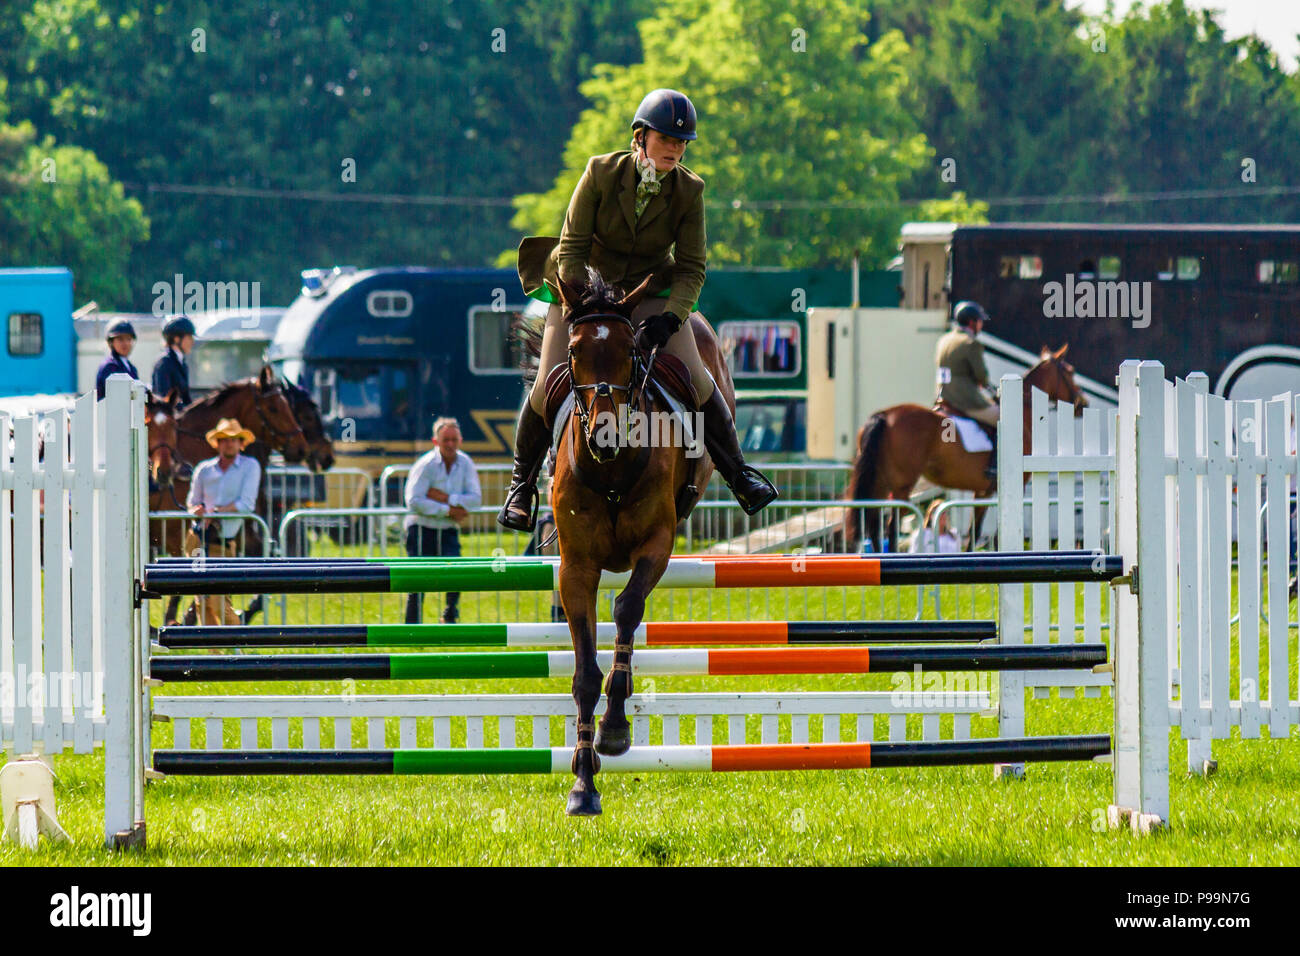
[{"label": "bright light-blue vehicle with small window at the left edge", "polygon": [[0,397],[77,390],[70,269],[0,269],[0,316],[5,320]]}]

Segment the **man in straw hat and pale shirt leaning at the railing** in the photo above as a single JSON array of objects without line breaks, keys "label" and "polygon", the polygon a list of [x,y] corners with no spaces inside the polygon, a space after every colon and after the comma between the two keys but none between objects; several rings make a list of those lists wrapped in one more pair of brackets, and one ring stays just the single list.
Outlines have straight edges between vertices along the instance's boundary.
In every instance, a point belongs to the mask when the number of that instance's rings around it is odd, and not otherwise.
[{"label": "man in straw hat and pale shirt leaning at the railing", "polygon": [[[216,518],[221,514],[252,511],[257,502],[261,466],[255,458],[239,454],[254,441],[254,433],[237,419],[221,419],[207,434],[208,445],[217,450],[216,458],[200,462],[190,479],[190,497],[186,510],[198,520],[186,535],[186,554],[207,553],[212,557],[234,557],[239,553],[242,518]],[[222,607],[224,605],[224,607]],[[186,614],[196,617],[191,607]],[[238,624],[239,615],[226,597],[203,598],[204,624]]]}]

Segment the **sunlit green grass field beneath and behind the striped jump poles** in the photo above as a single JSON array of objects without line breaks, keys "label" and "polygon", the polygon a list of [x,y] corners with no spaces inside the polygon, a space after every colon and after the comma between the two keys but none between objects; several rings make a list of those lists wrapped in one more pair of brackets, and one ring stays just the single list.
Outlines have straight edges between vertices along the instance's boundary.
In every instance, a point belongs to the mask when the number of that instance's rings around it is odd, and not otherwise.
[{"label": "sunlit green grass field beneath and behind the striped jump poles", "polygon": [[[965,593],[962,617],[992,615],[992,589]],[[689,600],[677,592],[656,594],[647,617],[893,618],[910,615],[916,600],[916,589],[867,596],[831,589],[815,597],[789,591],[729,597],[694,593]],[[954,617],[953,601],[949,594],[948,617]],[[546,619],[549,604],[549,594],[464,598],[469,620]],[[437,597],[430,596],[426,614],[432,615],[437,606]],[[382,615],[399,620],[400,607],[400,596],[370,596],[365,607],[355,597],[330,597],[291,601],[287,610],[290,623],[302,623],[352,622],[363,619],[359,614],[364,619]],[[534,617],[538,613],[542,617]],[[278,619],[277,609],[272,620]],[[1294,658],[1291,665],[1294,680]],[[338,683],[276,683],[228,685],[224,692],[337,695],[342,689]],[[419,693],[433,688],[416,682],[359,682],[354,689]],[[439,682],[436,689],[568,693],[568,682]],[[889,689],[889,676],[660,678],[655,689]],[[199,684],[164,691],[213,692],[213,685]],[[1053,695],[1031,700],[1027,732],[1108,732],[1110,706],[1106,692],[1092,698]],[[910,730],[919,731],[915,719]],[[994,731],[994,721],[975,719],[976,736],[992,736]],[[269,728],[263,727],[261,734],[261,743],[269,745]],[[360,734],[360,726],[354,734]],[[788,734],[788,724],[783,726],[783,739]],[[878,734],[884,737],[883,723]],[[233,743],[234,727],[229,722],[226,735]],[[425,736],[421,727],[421,745],[428,745]],[[489,724],[489,743],[493,736]],[[684,736],[689,741],[689,734]],[[389,728],[389,737],[387,743],[395,745],[395,727]],[[155,730],[155,745],[166,747],[170,739],[169,726]],[[202,734],[196,732],[196,739],[202,740]],[[463,743],[463,737],[454,743]],[[526,739],[520,740],[520,745],[526,744]],[[1173,829],[1153,838],[1106,830],[1112,775],[1110,767],[1101,763],[1031,765],[1026,779],[1014,782],[994,782],[989,767],[610,774],[598,778],[604,816],[594,819],[564,817],[568,775],[169,778],[148,786],[144,855],[114,855],[101,848],[103,758],[62,756],[55,760],[58,812],[73,843],[43,843],[36,855],[0,844],[0,864],[1295,864],[1300,858],[1300,747],[1295,739],[1243,741],[1234,736],[1216,741],[1214,754],[1218,774],[1188,778],[1178,771],[1186,762],[1184,745],[1176,735],[1170,737],[1170,765],[1175,767]]]}]

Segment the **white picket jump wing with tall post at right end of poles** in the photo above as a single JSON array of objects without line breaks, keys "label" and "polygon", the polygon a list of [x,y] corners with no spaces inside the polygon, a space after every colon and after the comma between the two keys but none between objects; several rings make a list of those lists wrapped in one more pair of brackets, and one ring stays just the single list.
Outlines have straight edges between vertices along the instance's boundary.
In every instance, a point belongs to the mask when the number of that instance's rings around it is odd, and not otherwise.
[{"label": "white picket jump wing with tall post at right end of poles", "polygon": [[1170,384],[1154,362],[1119,369],[1118,551],[1139,571],[1136,589],[1115,589],[1114,813],[1139,827],[1169,819],[1170,728],[1199,771],[1234,727],[1277,740],[1300,722],[1287,593],[1300,397],[1227,402],[1205,385]]}]

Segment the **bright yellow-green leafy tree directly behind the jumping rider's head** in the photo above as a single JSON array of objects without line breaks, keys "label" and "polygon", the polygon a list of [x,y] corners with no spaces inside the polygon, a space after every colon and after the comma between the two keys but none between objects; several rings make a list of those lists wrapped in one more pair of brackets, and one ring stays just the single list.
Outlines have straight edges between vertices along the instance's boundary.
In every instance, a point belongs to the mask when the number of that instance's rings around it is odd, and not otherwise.
[{"label": "bright yellow-green leafy tree directly behind the jumping rider's head", "polygon": [[515,228],[558,234],[588,157],[627,148],[637,103],[668,86],[699,114],[686,165],[708,183],[711,263],[827,265],[857,248],[883,264],[904,219],[900,183],[931,151],[900,105],[902,36],[867,44],[863,26],[848,0],[660,3],[640,25],[642,62],[597,66],[582,85],[592,105],[564,169],[516,199]]}]

